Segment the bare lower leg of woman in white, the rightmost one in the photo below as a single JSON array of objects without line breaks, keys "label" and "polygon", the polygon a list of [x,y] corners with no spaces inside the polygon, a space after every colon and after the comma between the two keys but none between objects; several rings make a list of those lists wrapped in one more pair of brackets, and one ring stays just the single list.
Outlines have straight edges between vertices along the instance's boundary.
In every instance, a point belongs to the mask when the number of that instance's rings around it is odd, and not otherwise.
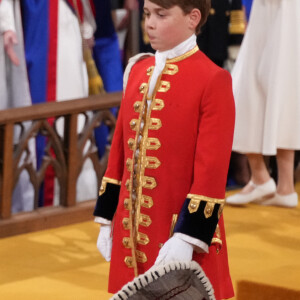
[{"label": "bare lower leg of woman in white, the rightmost one", "polygon": [[277,150],[278,182],[277,193],[279,195],[289,195],[295,192],[294,187],[294,150]]}]

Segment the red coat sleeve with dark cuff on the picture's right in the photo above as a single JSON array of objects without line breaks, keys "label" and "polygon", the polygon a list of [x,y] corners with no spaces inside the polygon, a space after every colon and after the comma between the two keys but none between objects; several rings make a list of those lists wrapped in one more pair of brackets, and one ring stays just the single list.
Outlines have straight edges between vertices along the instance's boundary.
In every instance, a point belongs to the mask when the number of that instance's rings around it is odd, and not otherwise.
[{"label": "red coat sleeve with dark cuff on the picture's right", "polygon": [[174,232],[211,244],[225,204],[235,106],[229,73],[218,70],[201,100],[194,178]]}]

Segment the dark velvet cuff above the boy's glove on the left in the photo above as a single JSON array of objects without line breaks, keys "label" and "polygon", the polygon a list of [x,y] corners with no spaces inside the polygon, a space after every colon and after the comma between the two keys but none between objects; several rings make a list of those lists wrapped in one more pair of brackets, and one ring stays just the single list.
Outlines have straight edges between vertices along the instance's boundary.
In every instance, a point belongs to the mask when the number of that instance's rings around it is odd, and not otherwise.
[{"label": "dark velvet cuff above the boy's glove on the left", "polygon": [[117,184],[106,183],[104,193],[98,197],[94,216],[102,217],[110,221],[113,219],[119,202],[120,188],[121,187]]}]

